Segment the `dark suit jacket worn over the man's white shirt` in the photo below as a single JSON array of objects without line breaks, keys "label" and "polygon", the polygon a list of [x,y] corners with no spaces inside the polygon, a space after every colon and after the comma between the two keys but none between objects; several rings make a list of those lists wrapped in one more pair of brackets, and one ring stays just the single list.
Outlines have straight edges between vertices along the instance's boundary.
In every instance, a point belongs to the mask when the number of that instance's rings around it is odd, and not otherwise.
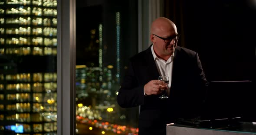
[{"label": "dark suit jacket worn over the man's white shirt", "polygon": [[165,132],[166,124],[176,118],[200,115],[207,80],[197,53],[177,46],[173,62],[170,96],[159,99],[160,95],[144,96],[143,90],[145,84],[159,76],[151,48],[130,58],[117,100],[123,108],[141,106],[139,135],[144,131]]}]

